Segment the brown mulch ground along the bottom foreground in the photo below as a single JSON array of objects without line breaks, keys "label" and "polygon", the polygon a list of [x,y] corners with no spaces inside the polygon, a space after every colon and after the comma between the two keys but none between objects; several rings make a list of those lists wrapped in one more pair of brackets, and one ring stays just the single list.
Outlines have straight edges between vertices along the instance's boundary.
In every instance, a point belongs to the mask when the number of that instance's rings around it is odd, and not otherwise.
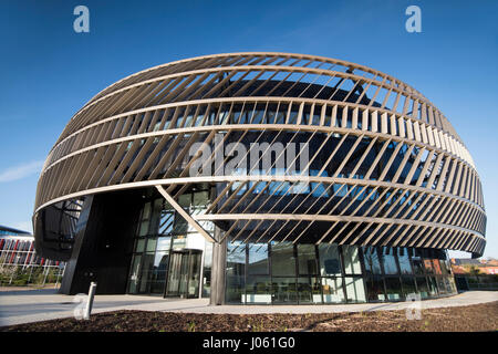
[{"label": "brown mulch ground along the bottom foreground", "polygon": [[63,319],[0,327],[0,332],[474,332],[498,331],[498,301],[422,310],[308,314],[198,314],[117,311],[89,321]]}]

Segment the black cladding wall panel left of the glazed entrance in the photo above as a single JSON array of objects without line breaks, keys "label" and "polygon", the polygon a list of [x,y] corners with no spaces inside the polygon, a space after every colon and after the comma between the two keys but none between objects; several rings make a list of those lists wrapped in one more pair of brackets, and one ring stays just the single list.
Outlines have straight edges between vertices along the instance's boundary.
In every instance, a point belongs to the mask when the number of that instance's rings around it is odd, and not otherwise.
[{"label": "black cladding wall panel left of the glazed entrance", "polygon": [[90,282],[96,281],[97,294],[125,293],[142,192],[118,191],[92,199],[80,217],[60,292],[86,293]]}]

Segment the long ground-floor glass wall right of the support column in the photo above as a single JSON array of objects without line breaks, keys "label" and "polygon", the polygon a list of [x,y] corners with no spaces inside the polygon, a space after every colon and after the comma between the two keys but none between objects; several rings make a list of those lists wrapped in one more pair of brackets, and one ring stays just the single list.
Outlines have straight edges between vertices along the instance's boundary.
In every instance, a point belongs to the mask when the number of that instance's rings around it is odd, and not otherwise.
[{"label": "long ground-floor glass wall right of the support column", "polygon": [[427,249],[234,242],[226,275],[227,303],[362,303],[456,293],[446,253]]}]

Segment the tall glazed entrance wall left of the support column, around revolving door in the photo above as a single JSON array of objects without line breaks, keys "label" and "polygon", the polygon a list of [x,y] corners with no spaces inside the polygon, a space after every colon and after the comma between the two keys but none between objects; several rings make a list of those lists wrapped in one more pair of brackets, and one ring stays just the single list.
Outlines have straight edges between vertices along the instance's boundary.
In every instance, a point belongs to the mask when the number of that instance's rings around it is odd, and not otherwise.
[{"label": "tall glazed entrance wall left of the support column, around revolving door", "polygon": [[[208,190],[183,194],[178,204],[190,215],[205,212]],[[211,222],[203,227],[212,231]],[[127,292],[208,298],[212,244],[163,198],[145,200],[134,240]]]}]

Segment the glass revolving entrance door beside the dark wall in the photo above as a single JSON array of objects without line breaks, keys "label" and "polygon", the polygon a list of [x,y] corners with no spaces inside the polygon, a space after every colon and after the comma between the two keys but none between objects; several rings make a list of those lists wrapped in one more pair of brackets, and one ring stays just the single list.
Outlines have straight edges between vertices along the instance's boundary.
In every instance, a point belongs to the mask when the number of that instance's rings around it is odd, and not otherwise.
[{"label": "glass revolving entrance door beside the dark wall", "polygon": [[201,252],[174,251],[169,261],[165,296],[197,298],[199,295]]}]

